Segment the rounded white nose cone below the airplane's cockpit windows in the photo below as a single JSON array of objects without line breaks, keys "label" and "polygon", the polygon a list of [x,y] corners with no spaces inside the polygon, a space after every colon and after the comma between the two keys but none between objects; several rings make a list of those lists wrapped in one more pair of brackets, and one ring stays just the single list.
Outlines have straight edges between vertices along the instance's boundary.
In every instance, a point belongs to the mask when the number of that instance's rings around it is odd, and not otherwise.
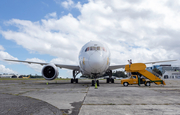
[{"label": "rounded white nose cone below the airplane's cockpit windows", "polygon": [[92,69],[98,71],[103,66],[103,56],[95,52],[89,57],[89,65]]}]

